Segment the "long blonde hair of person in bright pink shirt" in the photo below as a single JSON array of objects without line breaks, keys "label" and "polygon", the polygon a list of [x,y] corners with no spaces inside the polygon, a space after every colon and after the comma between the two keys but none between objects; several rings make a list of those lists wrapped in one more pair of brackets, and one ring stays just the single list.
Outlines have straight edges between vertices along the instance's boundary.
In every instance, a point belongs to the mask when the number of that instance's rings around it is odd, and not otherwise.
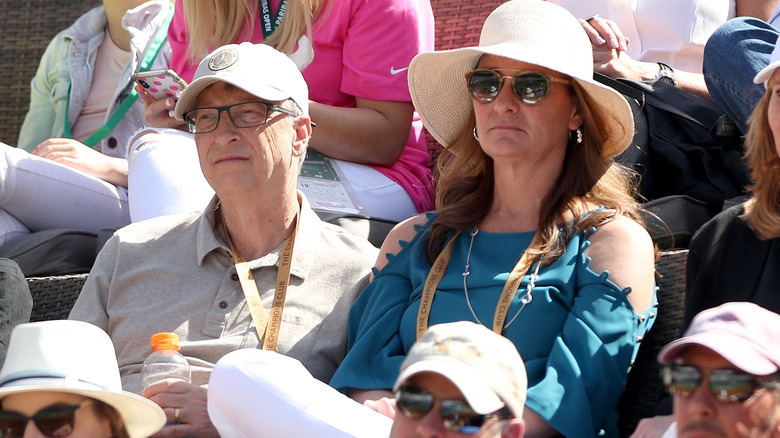
[{"label": "long blonde hair of person in bright pink shirt", "polygon": [[[269,0],[270,1],[270,0]],[[264,41],[290,54],[303,35],[311,39],[314,20],[327,0],[291,0],[279,27]],[[183,0],[187,20],[187,57],[193,64],[216,47],[238,41],[246,24],[255,26],[258,0]],[[311,48],[310,48],[311,50]]]}]

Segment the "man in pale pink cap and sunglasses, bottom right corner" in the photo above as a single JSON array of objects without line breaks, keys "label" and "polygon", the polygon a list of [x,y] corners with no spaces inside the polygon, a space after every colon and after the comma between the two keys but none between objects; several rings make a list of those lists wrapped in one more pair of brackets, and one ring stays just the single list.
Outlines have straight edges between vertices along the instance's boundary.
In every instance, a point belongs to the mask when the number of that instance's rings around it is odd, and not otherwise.
[{"label": "man in pale pink cap and sunglasses, bottom right corner", "polygon": [[674,396],[665,438],[780,436],[780,315],[748,302],[704,310],[658,361]]}]

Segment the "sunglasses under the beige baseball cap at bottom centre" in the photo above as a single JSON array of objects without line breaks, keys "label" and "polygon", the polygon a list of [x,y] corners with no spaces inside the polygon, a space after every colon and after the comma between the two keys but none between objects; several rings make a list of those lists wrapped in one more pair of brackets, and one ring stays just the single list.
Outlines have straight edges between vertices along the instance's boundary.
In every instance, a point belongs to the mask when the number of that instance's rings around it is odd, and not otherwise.
[{"label": "sunglasses under the beige baseball cap at bottom centre", "polygon": [[[395,406],[408,419],[422,420],[433,409],[435,397],[427,391],[408,386],[398,388]],[[442,400],[439,408],[442,425],[457,433],[475,434],[491,418],[505,420],[509,417],[503,409],[498,413],[477,414],[465,400]]]}]

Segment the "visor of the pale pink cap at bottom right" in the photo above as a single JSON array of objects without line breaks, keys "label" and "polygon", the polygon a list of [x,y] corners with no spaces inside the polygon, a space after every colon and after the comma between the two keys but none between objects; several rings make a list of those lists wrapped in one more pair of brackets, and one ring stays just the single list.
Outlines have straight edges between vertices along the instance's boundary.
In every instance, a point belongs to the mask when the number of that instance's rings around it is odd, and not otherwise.
[{"label": "visor of the pale pink cap at bottom right", "polygon": [[671,363],[689,347],[698,345],[708,348],[740,370],[755,376],[768,376],[778,372],[778,365],[767,359],[768,353],[761,353],[761,346],[747,342],[742,337],[727,333],[696,333],[672,341],[658,353],[658,362]]}]

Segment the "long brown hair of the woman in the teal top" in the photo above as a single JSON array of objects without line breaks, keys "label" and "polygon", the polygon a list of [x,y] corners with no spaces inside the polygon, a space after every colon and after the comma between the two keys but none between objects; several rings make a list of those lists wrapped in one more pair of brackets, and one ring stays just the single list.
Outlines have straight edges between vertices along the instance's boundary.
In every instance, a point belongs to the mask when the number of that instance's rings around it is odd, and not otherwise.
[{"label": "long brown hair of the woman in the teal top", "polygon": [[[563,168],[542,202],[537,228],[542,247],[535,259],[551,263],[564,251],[576,231],[608,222],[616,211],[642,223],[638,204],[631,196],[635,190],[631,172],[602,154],[600,145],[610,139],[604,123],[606,115],[576,81],[571,88],[583,114],[583,140],[569,140]],[[439,181],[436,194],[437,216],[431,225],[426,255],[432,262],[444,242],[456,232],[474,227],[487,215],[493,202],[493,160],[485,154],[472,135],[476,120],[472,113],[455,140],[439,156]],[[608,210],[587,217],[587,205],[603,205]],[[565,212],[575,221],[571,229],[560,228]]]}]

